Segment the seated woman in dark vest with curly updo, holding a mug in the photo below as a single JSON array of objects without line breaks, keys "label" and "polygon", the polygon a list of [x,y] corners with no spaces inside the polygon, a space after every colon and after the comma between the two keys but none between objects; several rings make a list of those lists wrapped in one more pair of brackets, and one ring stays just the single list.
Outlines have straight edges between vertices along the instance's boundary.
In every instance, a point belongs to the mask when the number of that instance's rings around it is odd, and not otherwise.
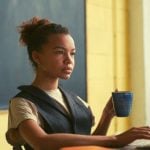
[{"label": "seated woman in dark vest with curly updo, holding a mug", "polygon": [[58,150],[61,147],[97,145],[121,147],[136,139],[150,139],[149,127],[132,128],[106,136],[114,117],[111,98],[96,130],[93,115],[78,96],[59,86],[74,69],[75,43],[68,29],[37,17],[19,27],[20,41],[27,46],[36,76],[10,101],[7,141],[26,150]]}]

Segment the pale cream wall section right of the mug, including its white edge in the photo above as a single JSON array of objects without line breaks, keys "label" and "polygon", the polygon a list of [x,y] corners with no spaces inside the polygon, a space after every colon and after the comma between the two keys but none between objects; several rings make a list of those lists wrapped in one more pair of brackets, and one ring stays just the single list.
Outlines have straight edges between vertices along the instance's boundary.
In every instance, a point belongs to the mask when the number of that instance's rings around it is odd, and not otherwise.
[{"label": "pale cream wall section right of the mug, including its white edge", "polygon": [[[150,124],[150,1],[129,1],[131,84],[134,91],[132,125]],[[137,17],[138,16],[138,17]],[[138,112],[138,113],[137,113]]]}]

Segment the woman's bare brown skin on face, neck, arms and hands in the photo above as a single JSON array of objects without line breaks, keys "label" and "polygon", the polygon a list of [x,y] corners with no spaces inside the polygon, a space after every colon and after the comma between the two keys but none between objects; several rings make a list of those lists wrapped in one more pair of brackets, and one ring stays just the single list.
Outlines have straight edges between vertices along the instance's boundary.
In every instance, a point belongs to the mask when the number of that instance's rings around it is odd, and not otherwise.
[{"label": "woman's bare brown skin on face, neck, arms and hands", "polygon": [[[49,41],[32,57],[37,64],[33,85],[42,90],[54,90],[59,79],[69,79],[75,66],[75,43],[69,34],[54,34]],[[35,150],[58,150],[61,147],[78,145],[97,145],[106,147],[121,147],[136,139],[150,139],[150,128],[139,127],[114,136],[106,136],[112,118],[115,116],[112,98],[106,104],[99,124],[93,134],[47,134],[33,120],[23,121],[18,132],[22,138]]]}]

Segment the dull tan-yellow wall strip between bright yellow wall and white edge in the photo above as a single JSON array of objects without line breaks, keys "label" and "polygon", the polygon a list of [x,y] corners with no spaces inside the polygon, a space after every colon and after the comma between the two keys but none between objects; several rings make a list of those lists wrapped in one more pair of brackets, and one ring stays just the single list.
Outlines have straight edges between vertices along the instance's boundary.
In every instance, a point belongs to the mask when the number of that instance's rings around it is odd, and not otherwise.
[{"label": "dull tan-yellow wall strip between bright yellow wall and white edge", "polygon": [[[132,109],[132,125],[147,125],[146,115],[146,79],[145,79],[145,22],[144,3],[149,7],[149,1],[130,0],[129,1],[129,26],[130,26],[130,55],[131,55],[131,84],[134,92]],[[149,14],[147,14],[149,16]],[[143,22],[144,21],[144,22]],[[147,34],[147,33],[146,33]],[[144,39],[143,39],[144,38]],[[149,38],[148,38],[149,40]],[[148,46],[149,47],[149,46]],[[147,48],[148,48],[147,47]],[[147,49],[146,48],[146,49]],[[140,69],[139,69],[140,68]],[[149,89],[148,89],[149,90]],[[149,99],[148,99],[149,101]],[[149,125],[149,124],[148,124]]]}]

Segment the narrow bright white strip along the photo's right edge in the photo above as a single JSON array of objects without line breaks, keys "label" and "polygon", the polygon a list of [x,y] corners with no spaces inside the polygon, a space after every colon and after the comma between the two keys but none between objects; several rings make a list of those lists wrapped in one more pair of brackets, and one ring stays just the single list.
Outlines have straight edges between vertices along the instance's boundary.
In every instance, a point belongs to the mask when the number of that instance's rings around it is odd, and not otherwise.
[{"label": "narrow bright white strip along the photo's right edge", "polygon": [[146,125],[150,125],[150,1],[143,0]]}]

